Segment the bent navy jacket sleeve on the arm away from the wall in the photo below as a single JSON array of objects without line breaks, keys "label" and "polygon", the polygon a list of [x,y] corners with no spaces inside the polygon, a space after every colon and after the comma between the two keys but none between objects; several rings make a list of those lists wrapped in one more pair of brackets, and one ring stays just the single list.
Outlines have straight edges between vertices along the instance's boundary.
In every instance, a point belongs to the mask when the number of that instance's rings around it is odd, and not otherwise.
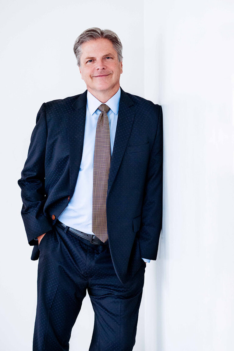
[{"label": "bent navy jacket sleeve on the arm away from the wall", "polygon": [[52,224],[44,215],[45,194],[45,152],[47,125],[45,102],[37,116],[31,135],[27,159],[18,184],[21,188],[23,206],[21,216],[29,245],[38,245],[34,238],[52,229]]}]

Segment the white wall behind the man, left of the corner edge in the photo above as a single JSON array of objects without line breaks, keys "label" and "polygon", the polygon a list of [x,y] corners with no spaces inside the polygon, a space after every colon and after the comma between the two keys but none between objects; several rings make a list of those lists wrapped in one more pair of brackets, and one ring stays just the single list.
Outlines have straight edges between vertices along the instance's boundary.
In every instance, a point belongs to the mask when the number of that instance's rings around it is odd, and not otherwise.
[{"label": "white wall behind the man, left of the corner edge", "polygon": [[[13,1],[1,6],[1,240],[0,349],[32,350],[38,261],[31,261],[20,215],[17,180],[27,157],[36,114],[44,101],[86,90],[73,44],[89,27],[115,31],[123,44],[121,87],[143,96],[143,2]],[[139,65],[141,62],[141,65]],[[143,349],[140,312],[135,351]],[[71,351],[88,350],[94,314],[88,294],[73,328]]]}]

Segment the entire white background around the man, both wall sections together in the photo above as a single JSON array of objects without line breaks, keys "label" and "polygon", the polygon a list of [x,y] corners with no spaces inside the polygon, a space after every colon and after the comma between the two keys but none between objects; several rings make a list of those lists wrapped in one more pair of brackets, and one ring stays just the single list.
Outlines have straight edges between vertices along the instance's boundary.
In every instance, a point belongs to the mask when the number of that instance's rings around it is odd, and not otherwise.
[{"label": "entire white background around the man, both wall sections together", "polygon": [[[11,0],[0,23],[1,349],[32,350],[38,261],[17,180],[36,114],[86,90],[73,43],[97,26],[123,44],[123,90],[163,108],[163,228],[134,351],[233,350],[233,2]],[[71,351],[88,350],[93,321],[87,294]]]}]

